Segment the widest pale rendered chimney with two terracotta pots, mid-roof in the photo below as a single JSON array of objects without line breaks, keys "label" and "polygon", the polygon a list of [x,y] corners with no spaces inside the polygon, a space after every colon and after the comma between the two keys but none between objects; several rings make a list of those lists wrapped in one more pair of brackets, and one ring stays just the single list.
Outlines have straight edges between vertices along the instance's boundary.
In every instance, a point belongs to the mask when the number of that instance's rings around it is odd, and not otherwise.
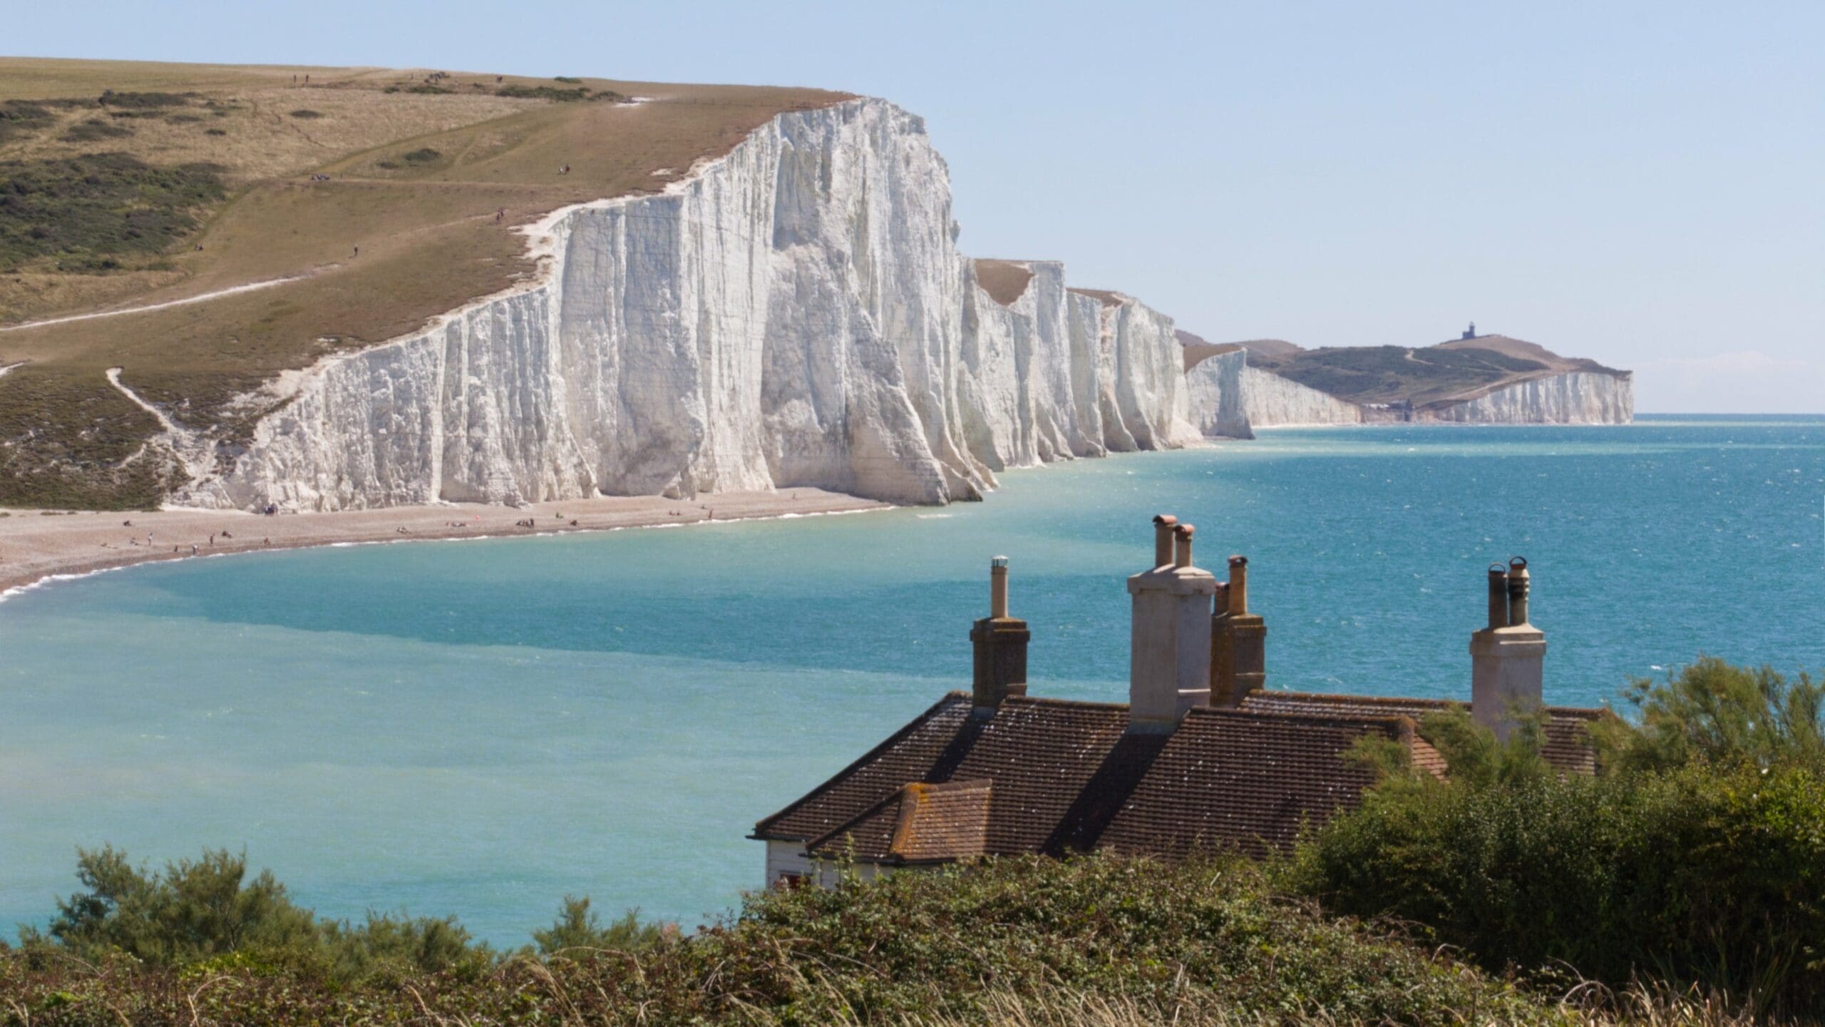
[{"label": "widest pale rendered chimney with two terracotta pots, mid-roof", "polygon": [[1153,566],[1128,579],[1133,634],[1128,729],[1168,733],[1210,702],[1210,603],[1217,579],[1192,566],[1192,524],[1153,517]]}]

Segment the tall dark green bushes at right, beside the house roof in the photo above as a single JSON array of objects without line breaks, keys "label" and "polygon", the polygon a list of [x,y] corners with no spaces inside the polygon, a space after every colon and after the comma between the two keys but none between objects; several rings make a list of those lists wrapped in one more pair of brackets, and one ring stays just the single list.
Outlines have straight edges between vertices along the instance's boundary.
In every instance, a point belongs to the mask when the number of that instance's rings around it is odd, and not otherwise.
[{"label": "tall dark green bushes at right, beside the house roof", "polygon": [[1392,769],[1294,857],[1329,910],[1391,916],[1487,969],[1655,979],[1825,1014],[1821,685],[1701,660],[1597,729],[1604,771],[1559,775],[1456,715],[1422,725],[1451,778]]}]

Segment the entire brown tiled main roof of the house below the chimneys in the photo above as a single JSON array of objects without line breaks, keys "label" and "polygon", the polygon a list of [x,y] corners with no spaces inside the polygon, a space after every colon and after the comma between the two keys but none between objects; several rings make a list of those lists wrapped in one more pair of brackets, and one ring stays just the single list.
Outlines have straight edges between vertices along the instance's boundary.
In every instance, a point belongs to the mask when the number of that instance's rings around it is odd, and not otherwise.
[{"label": "entire brown tiled main roof of the house below the chimneys", "polygon": [[[1121,704],[1011,696],[976,718],[953,693],[754,837],[891,864],[1095,848],[1261,853],[1361,800],[1374,769],[1347,753],[1363,736],[1402,742],[1413,766],[1442,775],[1414,724],[1447,705],[1256,691],[1241,709],[1192,709],[1168,735],[1128,733]],[[1549,711],[1548,758],[1590,769],[1582,727],[1602,711]]]}]

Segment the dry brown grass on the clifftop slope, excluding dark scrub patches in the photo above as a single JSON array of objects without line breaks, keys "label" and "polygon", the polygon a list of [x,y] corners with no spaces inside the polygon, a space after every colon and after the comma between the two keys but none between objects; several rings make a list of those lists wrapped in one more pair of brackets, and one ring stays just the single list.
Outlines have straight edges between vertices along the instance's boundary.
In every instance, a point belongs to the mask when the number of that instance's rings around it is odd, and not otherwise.
[{"label": "dry brown grass on the clifftop slope, excluding dark scrub patches", "polygon": [[[235,395],[328,351],[405,334],[527,274],[518,225],[571,203],[657,192],[783,110],[847,99],[819,90],[584,79],[593,93],[650,102],[551,102],[493,95],[549,80],[476,73],[438,79],[449,93],[407,91],[425,77],[372,68],[0,60],[0,101],[89,101],[104,90],[184,95],[182,104],[148,117],[55,106],[57,124],[0,144],[0,161],[78,152],[126,152],[153,164],[208,161],[224,168],[232,188],[175,252],[124,259],[113,274],[64,274],[47,261],[0,274],[0,325],[299,278],[166,311],[0,331],[0,364],[26,362],[0,380],[0,426],[13,428],[0,433],[0,503],[42,499],[42,488],[22,486],[22,473],[51,481],[68,471],[57,466],[58,446],[80,431],[82,404],[119,397],[102,378],[108,367],[122,367],[124,384],[181,424],[245,429],[257,411],[232,411]],[[294,117],[297,110],[318,117]],[[131,135],[64,139],[68,126],[88,119],[128,126]],[[416,150],[438,157],[403,161]],[[558,174],[564,164],[569,174]],[[312,181],[314,174],[328,181]],[[500,208],[507,217],[496,225]],[[18,417],[7,418],[7,409],[51,384],[68,402],[40,429],[16,431]],[[97,490],[106,493],[106,482],[77,490],[68,504],[95,504]],[[119,499],[142,504],[144,495]]]}]

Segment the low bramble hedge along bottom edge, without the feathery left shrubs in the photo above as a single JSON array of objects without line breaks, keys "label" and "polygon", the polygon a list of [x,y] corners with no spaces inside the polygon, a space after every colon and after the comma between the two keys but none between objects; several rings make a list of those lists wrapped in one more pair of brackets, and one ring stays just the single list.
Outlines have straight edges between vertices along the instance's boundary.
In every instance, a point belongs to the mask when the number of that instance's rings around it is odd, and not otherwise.
[{"label": "low bramble hedge along bottom edge, without the feathery left shrubs", "polygon": [[[588,923],[586,910],[571,919]],[[1113,857],[759,894],[726,925],[637,952],[566,947],[350,985],[308,963],[150,969],[78,963],[53,945],[0,959],[0,1022],[33,1025],[1579,1020],[1279,899],[1246,863]]]}]

